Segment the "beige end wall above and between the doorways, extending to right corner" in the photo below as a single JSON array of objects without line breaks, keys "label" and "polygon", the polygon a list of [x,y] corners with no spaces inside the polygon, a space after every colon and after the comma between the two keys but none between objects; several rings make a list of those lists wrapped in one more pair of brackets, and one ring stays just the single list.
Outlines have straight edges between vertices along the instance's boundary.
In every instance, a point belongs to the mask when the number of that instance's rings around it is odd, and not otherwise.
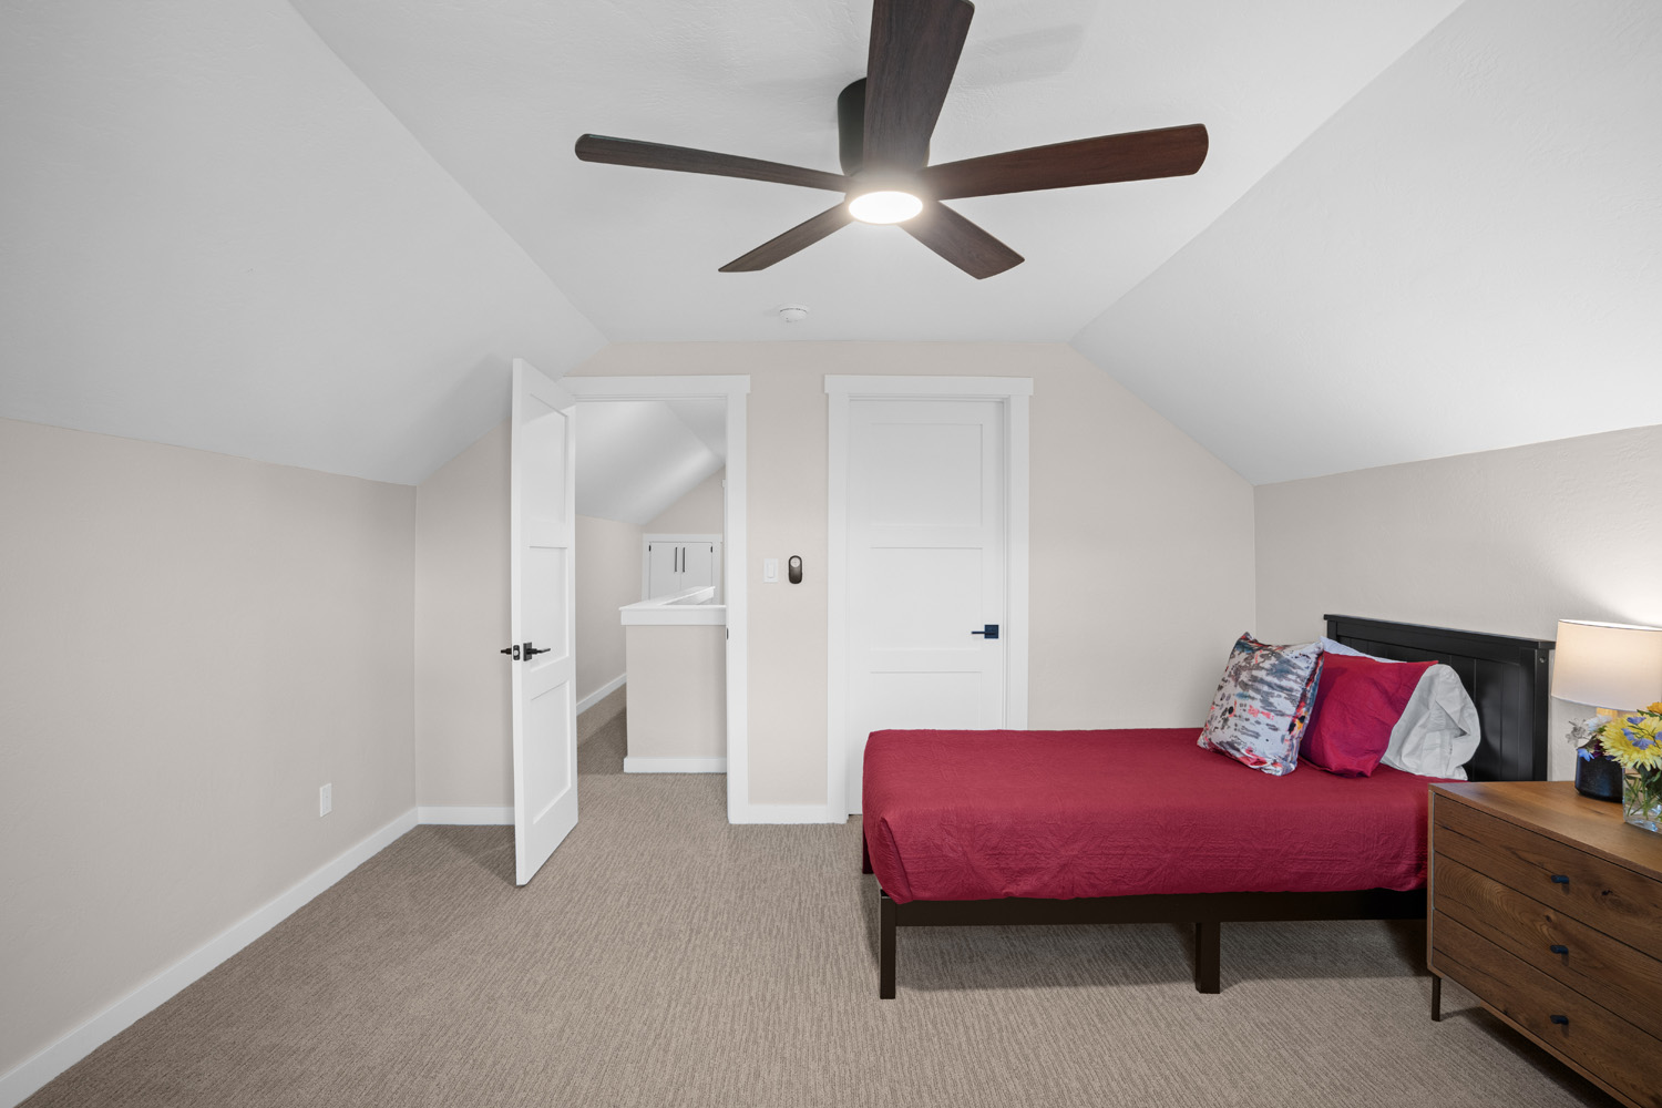
[{"label": "beige end wall above and between the doorways, extending to right corner", "polygon": [[[826,374],[1034,379],[1034,728],[1195,724],[1253,625],[1253,493],[1062,344],[618,344],[573,375],[750,374],[751,801],[826,797]],[[801,555],[801,585],[761,558]]]}]

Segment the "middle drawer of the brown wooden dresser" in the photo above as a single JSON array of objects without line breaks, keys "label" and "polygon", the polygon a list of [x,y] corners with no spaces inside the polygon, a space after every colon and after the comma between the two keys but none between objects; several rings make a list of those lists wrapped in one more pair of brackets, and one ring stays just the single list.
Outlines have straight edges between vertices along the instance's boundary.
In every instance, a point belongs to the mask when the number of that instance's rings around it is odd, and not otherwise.
[{"label": "middle drawer of the brown wooden dresser", "polygon": [[[1441,842],[1438,844],[1441,847]],[[1431,910],[1662,1038],[1662,962],[1446,854],[1431,860]],[[1554,950],[1559,947],[1559,950]]]}]

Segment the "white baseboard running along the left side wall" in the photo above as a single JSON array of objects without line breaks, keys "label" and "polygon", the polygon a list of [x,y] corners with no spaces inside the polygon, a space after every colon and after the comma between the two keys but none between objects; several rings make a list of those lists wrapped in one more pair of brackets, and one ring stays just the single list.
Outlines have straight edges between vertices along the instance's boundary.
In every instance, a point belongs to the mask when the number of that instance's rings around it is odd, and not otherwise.
[{"label": "white baseboard running along the left side wall", "polygon": [[140,1017],[156,1010],[186,985],[193,983],[196,978],[208,973],[208,970],[214,968],[233,954],[286,920],[319,892],[367,862],[414,826],[416,809],[411,809],[391,824],[372,832],[367,839],[347,847],[346,852],[339,854],[332,860],[324,862],[321,867],[289,887],[288,892],[283,892],[274,900],[266,902],[239,919],[236,924],[231,924],[206,944],[186,954],[183,958],[161,970],[148,982],[37,1053],[33,1058],[22,1061],[10,1073],[0,1076],[0,1108],[15,1108],[15,1105],[20,1105],[47,1081],[68,1070],[93,1050],[136,1023]]}]

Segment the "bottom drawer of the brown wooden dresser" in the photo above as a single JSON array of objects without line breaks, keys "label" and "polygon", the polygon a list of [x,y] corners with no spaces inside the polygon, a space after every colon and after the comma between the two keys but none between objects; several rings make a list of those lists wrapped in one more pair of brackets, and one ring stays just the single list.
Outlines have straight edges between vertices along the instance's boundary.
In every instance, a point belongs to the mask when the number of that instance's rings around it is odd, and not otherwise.
[{"label": "bottom drawer of the brown wooden dresser", "polygon": [[[1443,912],[1431,968],[1637,1105],[1662,1108],[1662,1040],[1561,985]],[[1554,1022],[1557,1017],[1561,1022]]]}]

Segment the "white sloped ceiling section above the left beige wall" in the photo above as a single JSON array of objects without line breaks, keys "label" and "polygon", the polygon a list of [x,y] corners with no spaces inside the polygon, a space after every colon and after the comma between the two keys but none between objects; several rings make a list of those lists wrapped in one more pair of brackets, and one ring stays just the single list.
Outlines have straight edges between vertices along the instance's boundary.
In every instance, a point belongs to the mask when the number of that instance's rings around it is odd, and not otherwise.
[{"label": "white sloped ceiling section above the left beige wall", "polygon": [[0,5],[0,415],[412,483],[600,332],[284,0]]}]

